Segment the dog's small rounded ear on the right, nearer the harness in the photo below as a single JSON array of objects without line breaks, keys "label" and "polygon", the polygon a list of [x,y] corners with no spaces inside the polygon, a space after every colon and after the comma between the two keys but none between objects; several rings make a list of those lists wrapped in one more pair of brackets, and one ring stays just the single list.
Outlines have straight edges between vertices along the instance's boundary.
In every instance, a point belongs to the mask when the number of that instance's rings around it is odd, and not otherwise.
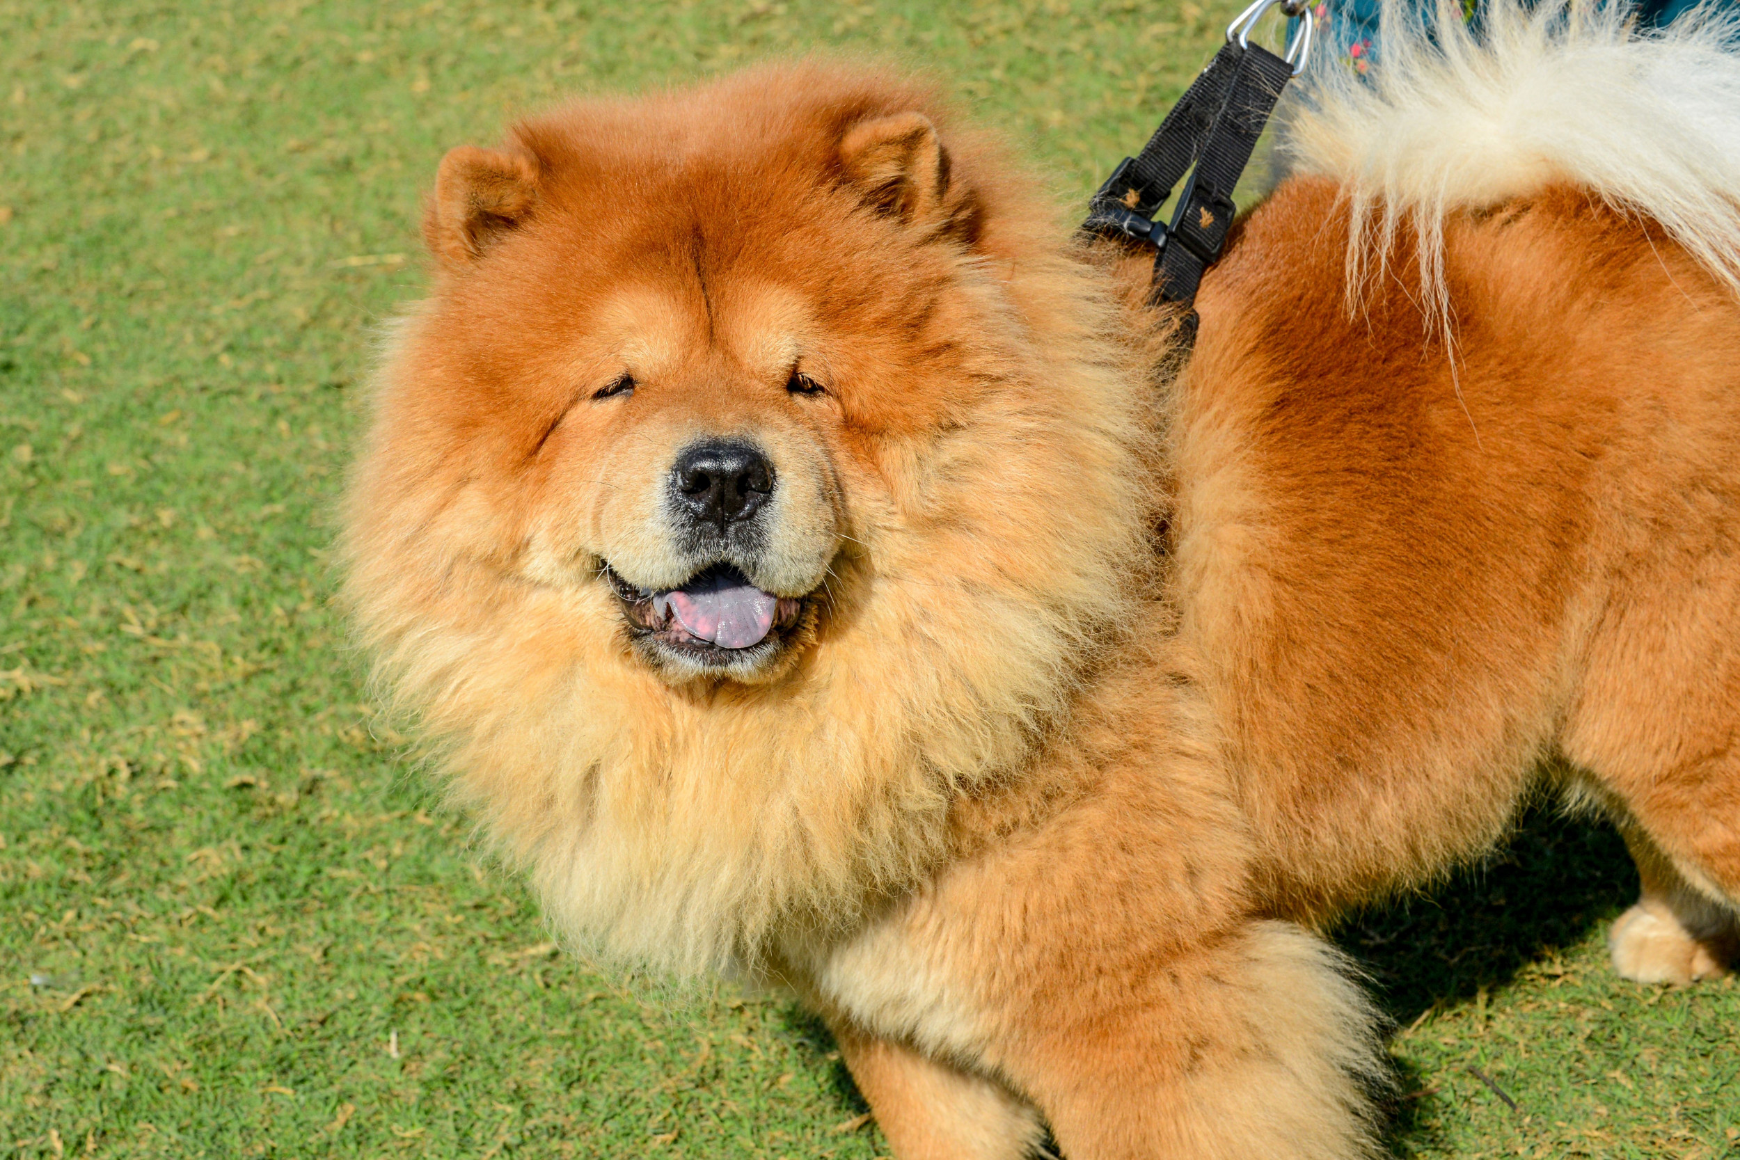
[{"label": "dog's small rounded ear on the right, nearer the harness", "polygon": [[948,150],[922,113],[851,125],[840,137],[840,167],[865,202],[891,217],[967,243],[978,235],[978,198],[952,172]]}]

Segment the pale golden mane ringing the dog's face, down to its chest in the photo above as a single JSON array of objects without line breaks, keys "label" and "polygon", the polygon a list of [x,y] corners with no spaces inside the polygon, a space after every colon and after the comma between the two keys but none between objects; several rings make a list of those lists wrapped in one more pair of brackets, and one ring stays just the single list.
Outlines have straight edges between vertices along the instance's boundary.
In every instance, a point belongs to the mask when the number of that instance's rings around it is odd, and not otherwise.
[{"label": "pale golden mane ringing the dog's face, down to its chest", "polygon": [[[793,70],[726,92],[793,77],[842,83]],[[1021,179],[959,157],[997,207],[997,261],[962,259],[960,341],[999,390],[886,449],[910,490],[858,513],[863,553],[837,562],[821,638],[771,685],[673,689],[628,656],[604,584],[532,584],[430,543],[452,496],[385,450],[428,313],[386,353],[346,515],[360,642],[458,797],[602,958],[753,967],[769,939],[908,889],[947,849],[952,797],[1016,774],[1140,614],[1148,403],[1114,304]]]}]

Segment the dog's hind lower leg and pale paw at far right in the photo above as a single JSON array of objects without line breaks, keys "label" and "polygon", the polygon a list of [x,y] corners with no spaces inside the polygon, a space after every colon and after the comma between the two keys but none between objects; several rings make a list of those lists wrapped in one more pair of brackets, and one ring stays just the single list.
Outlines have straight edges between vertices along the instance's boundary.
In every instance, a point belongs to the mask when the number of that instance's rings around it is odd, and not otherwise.
[{"label": "dog's hind lower leg and pale paw at far right", "polygon": [[1740,953],[1735,915],[1686,882],[1643,833],[1627,833],[1625,845],[1643,890],[1608,932],[1613,969],[1637,983],[1681,986],[1728,974]]}]

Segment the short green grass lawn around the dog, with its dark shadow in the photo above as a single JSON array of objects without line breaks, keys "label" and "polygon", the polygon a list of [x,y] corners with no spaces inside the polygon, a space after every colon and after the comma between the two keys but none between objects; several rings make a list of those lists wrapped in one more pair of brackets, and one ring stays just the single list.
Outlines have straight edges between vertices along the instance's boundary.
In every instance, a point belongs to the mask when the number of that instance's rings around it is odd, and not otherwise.
[{"label": "short green grass lawn around the dog, with its dark shadow", "polygon": [[[872,50],[1081,197],[1228,16],[0,0],[0,1155],[886,1150],[809,1019],[560,957],[398,760],[325,569],[371,336],[442,150],[517,110]],[[1401,1151],[1737,1151],[1740,993],[1606,970],[1629,875],[1536,819],[1347,927]]]}]

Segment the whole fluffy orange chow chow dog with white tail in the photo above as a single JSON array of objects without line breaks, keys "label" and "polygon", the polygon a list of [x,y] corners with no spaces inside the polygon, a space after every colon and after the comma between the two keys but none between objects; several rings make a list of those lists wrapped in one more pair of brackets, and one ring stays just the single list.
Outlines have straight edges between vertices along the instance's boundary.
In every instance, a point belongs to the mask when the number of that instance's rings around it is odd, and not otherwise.
[{"label": "whole fluffy orange chow chow dog with white tail", "polygon": [[1188,360],[889,73],[449,153],[346,598],[555,922],[799,995],[901,1160],[1371,1155],[1315,930],[1543,779],[1721,970],[1740,61],[1550,7],[1308,85]]}]

